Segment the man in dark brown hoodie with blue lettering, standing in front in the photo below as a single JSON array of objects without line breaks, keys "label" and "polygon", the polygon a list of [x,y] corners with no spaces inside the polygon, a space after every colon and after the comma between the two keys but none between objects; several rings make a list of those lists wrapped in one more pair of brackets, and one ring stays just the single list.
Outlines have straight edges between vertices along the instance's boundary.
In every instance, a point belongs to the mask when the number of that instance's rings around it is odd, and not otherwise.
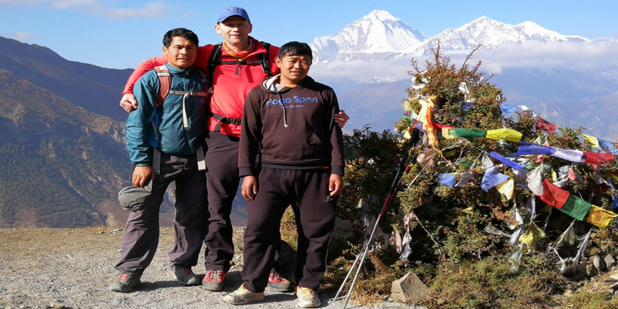
[{"label": "man in dark brown hoodie with blue lettering, standing in front", "polygon": [[[298,306],[321,305],[317,295],[343,189],[343,137],[333,117],[334,91],[307,76],[312,53],[290,42],[275,59],[281,74],[247,95],[242,115],[238,169],[247,198],[243,283],[224,298],[229,304],[264,299],[275,258],[273,240],[288,205],[297,207]],[[261,158],[258,166],[256,158]],[[259,185],[259,187],[258,187]]]}]

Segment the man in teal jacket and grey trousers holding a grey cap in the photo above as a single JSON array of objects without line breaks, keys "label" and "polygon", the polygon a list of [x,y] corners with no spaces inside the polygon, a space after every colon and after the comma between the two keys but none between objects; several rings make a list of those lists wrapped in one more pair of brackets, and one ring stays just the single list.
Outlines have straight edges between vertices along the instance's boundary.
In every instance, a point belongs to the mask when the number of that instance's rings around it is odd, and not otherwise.
[{"label": "man in teal jacket and grey trousers holding a grey cap", "polygon": [[[122,238],[122,254],[115,266],[117,279],[109,287],[129,292],[157,251],[159,207],[168,185],[176,182],[174,244],[170,276],[185,285],[199,284],[191,268],[198,261],[204,239],[205,174],[198,169],[207,114],[205,76],[193,66],[198,37],[177,28],[163,36],[168,63],[144,74],[135,84],[139,106],[126,121],[126,144],[134,165],[131,183],[152,186],[148,201],[131,212]],[[152,181],[152,183],[150,183]]]}]

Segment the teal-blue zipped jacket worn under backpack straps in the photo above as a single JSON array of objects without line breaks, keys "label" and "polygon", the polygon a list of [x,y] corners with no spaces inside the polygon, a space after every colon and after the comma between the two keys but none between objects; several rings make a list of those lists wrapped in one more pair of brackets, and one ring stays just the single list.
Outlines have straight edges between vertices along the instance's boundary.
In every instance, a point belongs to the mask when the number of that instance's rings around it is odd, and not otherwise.
[{"label": "teal-blue zipped jacket worn under backpack straps", "polygon": [[[196,67],[178,69],[165,64],[172,75],[171,90],[206,91],[203,77]],[[183,128],[183,95],[169,94],[163,105],[155,108],[159,94],[159,77],[155,70],[141,76],[133,94],[139,106],[126,120],[126,146],[131,162],[137,166],[152,165],[152,149],[169,155],[192,155],[201,145],[206,130],[207,100],[188,96],[185,108],[188,128]],[[152,120],[159,130],[155,135]]]}]

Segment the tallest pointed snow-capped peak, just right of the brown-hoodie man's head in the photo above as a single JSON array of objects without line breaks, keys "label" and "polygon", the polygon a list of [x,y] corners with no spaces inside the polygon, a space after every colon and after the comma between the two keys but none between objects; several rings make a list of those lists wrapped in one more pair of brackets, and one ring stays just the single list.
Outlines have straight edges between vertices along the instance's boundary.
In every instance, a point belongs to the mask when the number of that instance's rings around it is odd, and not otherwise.
[{"label": "tallest pointed snow-capped peak, just right of the brown-hoodie man's head", "polygon": [[314,60],[376,58],[403,52],[428,38],[385,10],[374,10],[331,36],[316,38],[311,47]]}]

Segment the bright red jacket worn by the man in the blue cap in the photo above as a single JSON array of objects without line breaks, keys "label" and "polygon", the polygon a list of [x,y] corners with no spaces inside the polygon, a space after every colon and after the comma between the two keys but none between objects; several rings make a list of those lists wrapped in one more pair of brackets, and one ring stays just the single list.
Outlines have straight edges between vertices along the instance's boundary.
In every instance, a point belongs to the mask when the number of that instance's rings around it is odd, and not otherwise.
[{"label": "bright red jacket worn by the man in the blue cap", "polygon": [[[266,53],[266,49],[262,44],[249,36],[252,44],[257,44],[257,48],[248,54],[242,60],[258,60],[258,54]],[[198,47],[197,59],[195,66],[207,71],[208,59],[213,51],[214,45],[205,45]],[[271,46],[268,51],[268,62],[271,64],[273,75],[279,73],[279,67],[275,63],[275,58],[279,53],[279,47]],[[221,48],[221,61],[236,60],[224,48]],[[133,71],[124,87],[123,94],[133,93],[133,85],[140,76],[150,71],[154,67],[164,65],[168,62],[167,56],[157,56],[141,62]],[[244,98],[251,89],[255,88],[264,80],[267,75],[262,70],[261,65],[242,65],[236,74],[237,65],[217,65],[212,72],[212,98],[210,99],[210,111],[216,115],[222,115],[230,118],[242,118],[242,106]],[[240,137],[240,125],[236,124],[221,124],[220,129],[217,128],[219,121],[214,117],[208,117],[207,129],[211,131],[220,131],[226,135]]]}]

